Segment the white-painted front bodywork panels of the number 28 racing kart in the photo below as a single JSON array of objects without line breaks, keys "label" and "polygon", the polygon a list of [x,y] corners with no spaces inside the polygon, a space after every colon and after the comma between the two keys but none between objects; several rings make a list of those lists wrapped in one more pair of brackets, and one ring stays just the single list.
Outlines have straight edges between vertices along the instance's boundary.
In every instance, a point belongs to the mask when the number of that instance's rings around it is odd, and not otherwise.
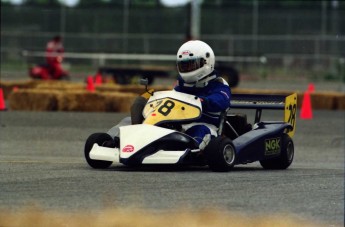
[{"label": "white-painted front bodywork panels of the number 28 racing kart", "polygon": [[[193,95],[188,95],[180,93],[177,91],[161,91],[155,92],[154,95],[148,100],[148,104],[155,100],[164,99],[166,97],[171,97],[175,100],[182,101],[186,104],[195,106],[197,108],[201,107],[201,102],[198,98]],[[149,113],[143,113],[147,115]],[[120,131],[120,148],[108,148],[102,147],[94,144],[90,151],[90,158],[94,160],[111,161],[115,163],[120,163],[121,159],[130,158],[136,152],[140,151],[143,147],[148,144],[166,136],[176,131],[166,128],[161,128],[149,124],[139,124],[139,125],[121,125],[119,127]],[[198,150],[193,150],[196,152]],[[175,164],[179,159],[187,152],[183,151],[164,151],[160,150],[154,154],[146,157],[143,160],[143,164]]]}]

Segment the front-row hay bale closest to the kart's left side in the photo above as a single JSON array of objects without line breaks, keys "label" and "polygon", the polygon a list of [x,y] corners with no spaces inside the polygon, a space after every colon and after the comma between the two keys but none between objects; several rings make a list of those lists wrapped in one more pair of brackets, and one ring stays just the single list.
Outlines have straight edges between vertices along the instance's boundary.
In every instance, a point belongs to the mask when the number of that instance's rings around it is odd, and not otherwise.
[{"label": "front-row hay bale closest to the kart's left side", "polygon": [[106,92],[103,93],[107,111],[130,112],[134,99],[138,96],[135,93]]}]

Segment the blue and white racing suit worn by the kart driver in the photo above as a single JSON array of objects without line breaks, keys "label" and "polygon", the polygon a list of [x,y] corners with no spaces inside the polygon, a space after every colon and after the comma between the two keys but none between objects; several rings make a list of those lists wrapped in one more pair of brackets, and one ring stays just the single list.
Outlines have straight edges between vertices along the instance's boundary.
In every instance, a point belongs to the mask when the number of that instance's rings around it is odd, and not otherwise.
[{"label": "blue and white racing suit worn by the kart driver", "polygon": [[195,95],[201,100],[203,111],[201,118],[182,126],[185,133],[198,142],[200,149],[204,149],[211,138],[217,136],[220,112],[230,107],[231,90],[228,83],[223,78],[217,77],[215,72],[210,75],[214,79],[205,82],[203,86],[186,84],[179,77],[174,88],[175,91]]}]

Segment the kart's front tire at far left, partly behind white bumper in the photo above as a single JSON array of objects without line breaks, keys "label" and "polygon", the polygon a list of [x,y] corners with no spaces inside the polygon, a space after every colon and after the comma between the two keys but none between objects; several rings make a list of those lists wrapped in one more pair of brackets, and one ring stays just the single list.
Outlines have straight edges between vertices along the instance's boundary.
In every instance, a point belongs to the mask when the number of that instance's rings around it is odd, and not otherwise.
[{"label": "kart's front tire at far left, partly behind white bumper", "polygon": [[84,155],[86,162],[95,169],[105,169],[108,168],[113,162],[110,161],[100,161],[100,160],[93,160],[90,159],[90,151],[95,143],[99,146],[102,146],[104,142],[113,140],[111,136],[107,133],[94,133],[87,138],[85,147],[84,147]]}]

